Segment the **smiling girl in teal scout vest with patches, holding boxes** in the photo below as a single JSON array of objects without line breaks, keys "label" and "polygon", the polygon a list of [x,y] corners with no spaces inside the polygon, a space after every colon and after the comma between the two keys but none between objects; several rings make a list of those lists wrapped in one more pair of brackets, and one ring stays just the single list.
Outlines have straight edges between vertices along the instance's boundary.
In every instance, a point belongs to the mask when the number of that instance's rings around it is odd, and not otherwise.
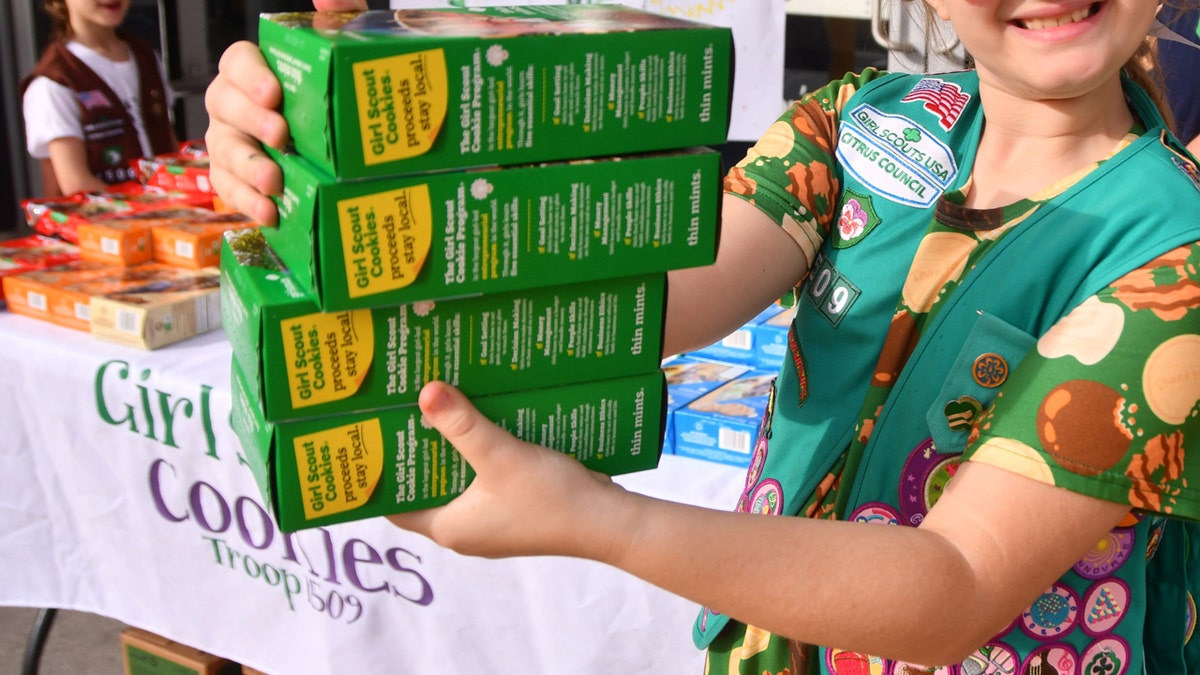
[{"label": "smiling girl in teal scout vest with patches, holding boxes", "polygon": [[[1200,673],[1200,172],[1158,4],[925,2],[976,67],[796,102],[726,179],[716,263],[671,277],[667,353],[798,303],[734,510],[624,491],[432,383],[478,478],[396,525],[692,598],[714,674]],[[268,222],[277,101],[232,48],[214,184]]]}]

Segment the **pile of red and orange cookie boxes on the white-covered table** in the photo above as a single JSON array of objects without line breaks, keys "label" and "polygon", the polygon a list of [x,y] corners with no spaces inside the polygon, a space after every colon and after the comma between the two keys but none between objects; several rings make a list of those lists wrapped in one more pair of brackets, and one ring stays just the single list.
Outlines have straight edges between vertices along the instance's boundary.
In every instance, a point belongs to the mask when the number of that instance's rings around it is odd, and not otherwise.
[{"label": "pile of red and orange cookie boxes on the white-covered table", "polygon": [[253,223],[215,203],[203,142],[137,162],[103,192],[22,202],[36,234],[0,241],[0,305],[146,350],[221,327],[221,234]]}]

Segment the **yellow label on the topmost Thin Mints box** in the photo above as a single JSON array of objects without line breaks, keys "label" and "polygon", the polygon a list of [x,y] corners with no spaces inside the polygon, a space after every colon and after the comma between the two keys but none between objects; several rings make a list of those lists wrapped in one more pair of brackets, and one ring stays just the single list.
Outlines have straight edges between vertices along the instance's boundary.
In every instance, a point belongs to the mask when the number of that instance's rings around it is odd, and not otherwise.
[{"label": "yellow label on the topmost Thin Mints box", "polygon": [[445,54],[426,49],[354,64],[362,132],[362,163],[424,155],[433,147],[449,106]]}]

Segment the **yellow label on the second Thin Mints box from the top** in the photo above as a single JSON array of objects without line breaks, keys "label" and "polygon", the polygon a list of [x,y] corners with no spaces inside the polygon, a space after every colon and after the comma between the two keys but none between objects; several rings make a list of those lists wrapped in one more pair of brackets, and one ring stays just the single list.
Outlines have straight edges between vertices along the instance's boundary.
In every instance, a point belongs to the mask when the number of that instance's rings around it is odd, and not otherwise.
[{"label": "yellow label on the second Thin Mints box from the top", "polygon": [[433,245],[428,186],[342,199],[337,221],[352,298],[396,291],[416,281]]}]

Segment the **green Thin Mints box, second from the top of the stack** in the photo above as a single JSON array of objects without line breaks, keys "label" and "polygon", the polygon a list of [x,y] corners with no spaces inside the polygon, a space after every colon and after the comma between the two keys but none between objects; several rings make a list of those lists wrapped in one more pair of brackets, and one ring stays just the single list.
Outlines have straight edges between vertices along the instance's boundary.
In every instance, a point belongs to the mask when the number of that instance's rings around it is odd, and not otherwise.
[{"label": "green Thin Mints box, second from the top of the stack", "polygon": [[710,264],[720,154],[707,149],[336,181],[298,155],[268,243],[324,311]]}]

